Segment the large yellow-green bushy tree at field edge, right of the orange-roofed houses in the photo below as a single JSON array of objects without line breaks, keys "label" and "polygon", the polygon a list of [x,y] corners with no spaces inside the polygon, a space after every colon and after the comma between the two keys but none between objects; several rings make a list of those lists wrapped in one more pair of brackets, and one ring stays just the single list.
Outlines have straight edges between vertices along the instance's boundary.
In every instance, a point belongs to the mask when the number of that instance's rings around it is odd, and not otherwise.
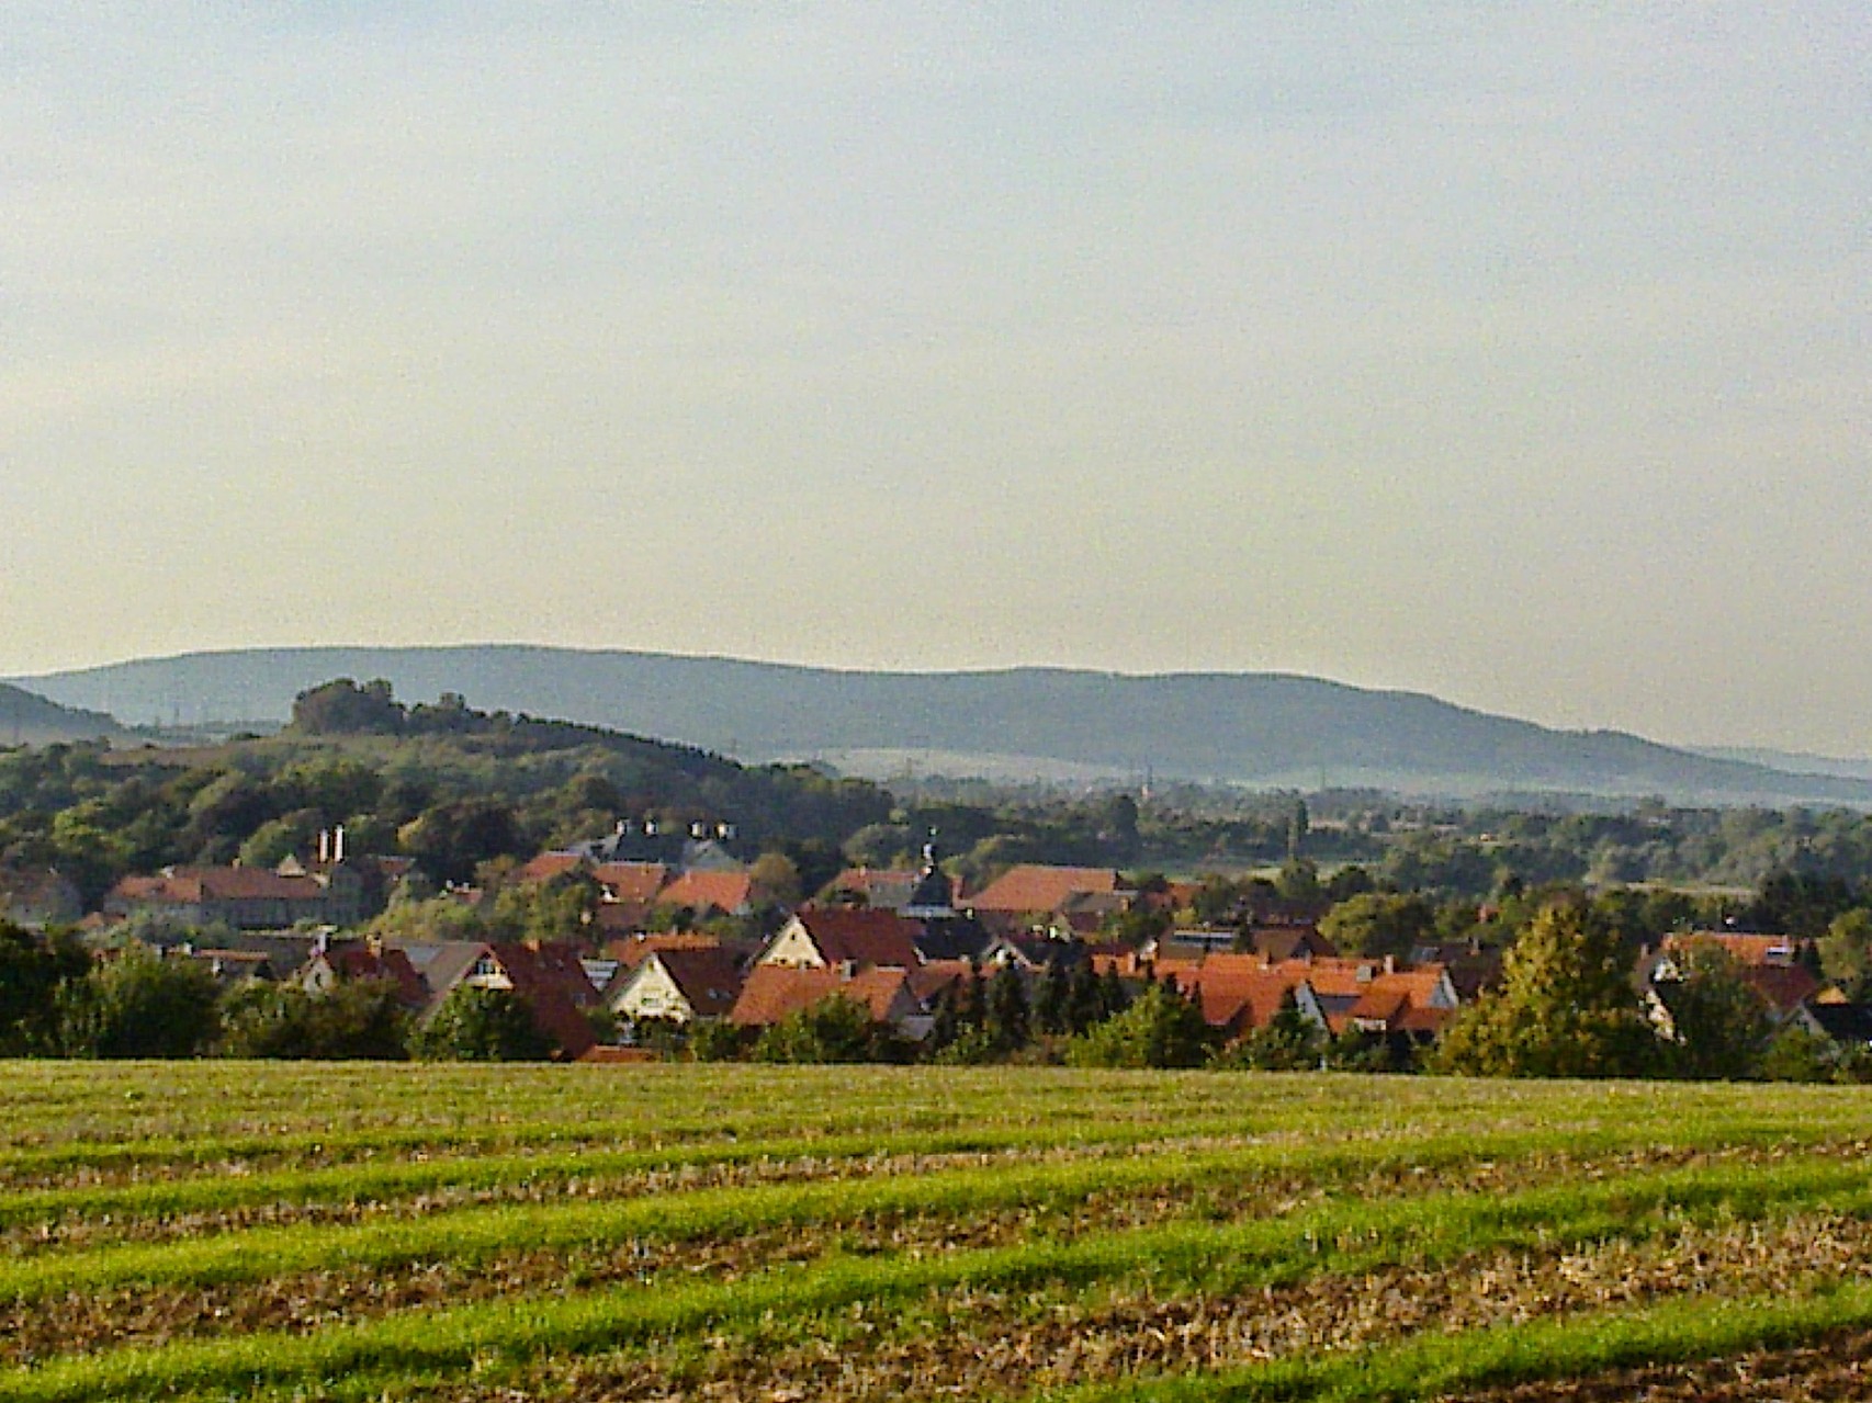
[{"label": "large yellow-green bushy tree at field edge, right of the orange-roofed houses", "polygon": [[1612,928],[1580,905],[1550,905],[1509,950],[1501,988],[1443,1033],[1432,1066],[1460,1076],[1640,1076],[1655,1049]]}]

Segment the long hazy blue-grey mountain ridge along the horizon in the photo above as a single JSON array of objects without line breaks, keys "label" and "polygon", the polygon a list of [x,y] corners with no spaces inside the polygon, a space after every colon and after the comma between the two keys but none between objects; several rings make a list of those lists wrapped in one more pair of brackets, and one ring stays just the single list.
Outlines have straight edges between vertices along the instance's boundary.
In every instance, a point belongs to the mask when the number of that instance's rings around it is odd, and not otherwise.
[{"label": "long hazy blue-grey mountain ridge along the horizon", "polygon": [[[1288,673],[1119,675],[1063,668],[835,672],[535,645],[195,653],[15,679],[127,722],[281,722],[333,677],[399,698],[607,726],[745,759],[940,756],[1116,776],[1404,793],[1559,791],[1672,803],[1872,806],[1872,780],[1561,731],[1417,692]],[[914,763],[914,761],[912,761]]]}]

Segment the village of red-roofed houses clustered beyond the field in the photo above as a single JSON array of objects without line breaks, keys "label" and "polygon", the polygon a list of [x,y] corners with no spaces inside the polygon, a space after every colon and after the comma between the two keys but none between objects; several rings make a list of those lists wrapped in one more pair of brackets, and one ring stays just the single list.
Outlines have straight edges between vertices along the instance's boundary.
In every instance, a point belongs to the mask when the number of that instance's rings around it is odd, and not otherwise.
[{"label": "village of red-roofed houses clustered beyond the field", "polygon": [[[1202,881],[1013,864],[966,890],[934,842],[915,866],[848,866],[784,900],[771,870],[728,851],[730,832],[620,821],[607,838],[509,866],[502,900],[558,913],[556,930],[519,939],[399,932],[384,918],[391,907],[472,913],[494,892],[449,883],[412,904],[406,892],[425,890],[416,862],[350,853],[343,827],[275,868],[122,877],[92,913],[56,874],[15,872],[0,881],[0,918],[79,932],[103,962],[127,948],[185,962],[223,995],[373,986],[412,1029],[492,1001],[519,1010],[532,1036],[455,1055],[554,1061],[1045,1061],[1157,990],[1191,1031],[1170,1061],[1397,1072],[1417,1070],[1503,980],[1499,947],[1421,939],[1342,952],[1318,905],[1217,913]],[[1674,932],[1632,954],[1631,991],[1660,1042],[1679,1038],[1677,991],[1707,965],[1687,958],[1698,952],[1720,954],[1760,1033],[1835,1063],[1872,1048],[1872,1010],[1823,976],[1814,941],[1735,930]],[[827,1012],[844,1042],[824,1031],[801,1042],[799,1027],[811,1033]],[[790,1038],[769,1036],[788,1027]]]}]

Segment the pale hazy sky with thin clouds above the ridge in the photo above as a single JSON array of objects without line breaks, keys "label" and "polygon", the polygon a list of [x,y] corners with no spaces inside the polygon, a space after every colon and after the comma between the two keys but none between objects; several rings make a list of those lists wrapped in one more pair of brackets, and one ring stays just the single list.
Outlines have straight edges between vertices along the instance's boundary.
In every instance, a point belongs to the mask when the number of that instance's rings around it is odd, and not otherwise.
[{"label": "pale hazy sky with thin clouds above the ridge", "polygon": [[1872,9],[0,9],[0,675],[1297,672],[1872,754]]}]

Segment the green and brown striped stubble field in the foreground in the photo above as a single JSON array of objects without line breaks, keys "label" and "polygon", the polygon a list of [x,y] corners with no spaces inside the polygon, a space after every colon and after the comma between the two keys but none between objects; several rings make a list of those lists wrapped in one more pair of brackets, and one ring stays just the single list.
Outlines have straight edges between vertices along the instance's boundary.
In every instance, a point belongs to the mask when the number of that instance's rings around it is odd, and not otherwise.
[{"label": "green and brown striped stubble field in the foreground", "polygon": [[0,1403],[1872,1394],[1861,1089],[0,1076]]}]

